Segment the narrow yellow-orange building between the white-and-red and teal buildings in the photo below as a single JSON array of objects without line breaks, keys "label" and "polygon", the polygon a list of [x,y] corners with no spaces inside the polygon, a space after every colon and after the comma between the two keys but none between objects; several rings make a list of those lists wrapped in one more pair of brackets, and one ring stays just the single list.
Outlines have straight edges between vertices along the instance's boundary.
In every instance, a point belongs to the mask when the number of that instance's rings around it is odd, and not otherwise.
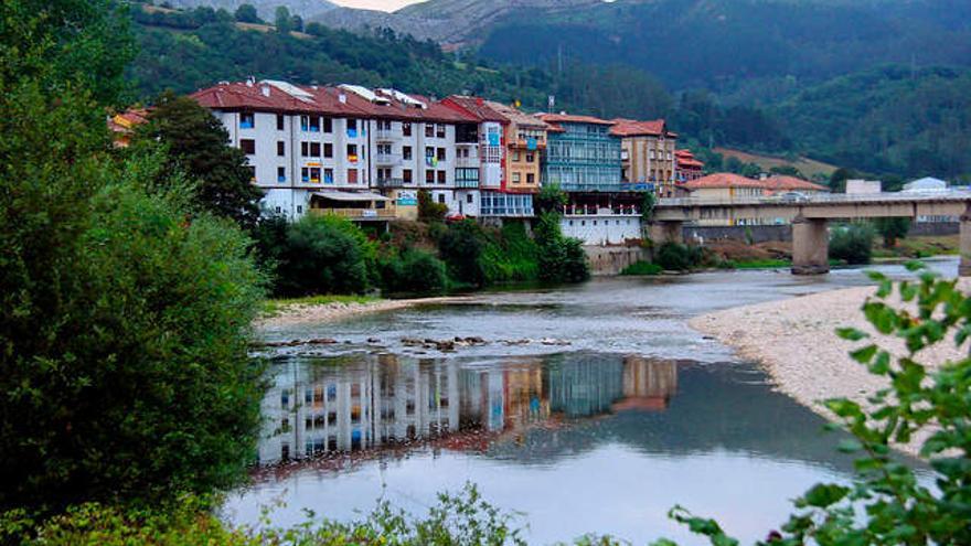
[{"label": "narrow yellow-orange building between the white-and-red and teal buildings", "polygon": [[537,193],[540,191],[540,159],[546,150],[546,131],[549,128],[540,118],[516,108],[487,100],[489,108],[509,120],[504,127],[506,143],[502,189],[509,193]]}]

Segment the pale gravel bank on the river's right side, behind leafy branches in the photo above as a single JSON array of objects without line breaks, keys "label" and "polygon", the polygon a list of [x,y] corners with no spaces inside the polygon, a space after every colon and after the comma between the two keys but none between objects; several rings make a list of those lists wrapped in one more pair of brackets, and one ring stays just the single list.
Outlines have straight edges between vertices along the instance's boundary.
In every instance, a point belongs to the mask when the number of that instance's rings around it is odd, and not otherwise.
[{"label": "pale gravel bank on the river's right side, behind leafy branches", "polygon": [[[969,287],[962,283],[962,288]],[[867,405],[867,396],[887,386],[884,378],[871,375],[850,357],[849,352],[863,343],[839,339],[837,328],[857,328],[893,354],[906,354],[899,340],[876,334],[863,315],[861,308],[875,291],[873,287],[849,288],[740,307],[697,317],[690,325],[760,362],[779,390],[832,418],[820,400],[846,397]],[[918,361],[935,367],[963,355],[967,349],[942,342],[919,353]],[[899,448],[916,454],[921,442],[917,438]]]}]

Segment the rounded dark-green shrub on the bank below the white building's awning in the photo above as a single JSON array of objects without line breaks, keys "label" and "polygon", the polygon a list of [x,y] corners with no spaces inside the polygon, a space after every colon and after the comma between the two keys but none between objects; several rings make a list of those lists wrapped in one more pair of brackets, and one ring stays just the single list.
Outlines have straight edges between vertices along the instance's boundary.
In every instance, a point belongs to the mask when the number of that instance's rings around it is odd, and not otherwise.
[{"label": "rounded dark-green shrub on the bank below the white building's awning", "polygon": [[286,297],[363,292],[370,286],[372,253],[367,238],[350,222],[305,216],[287,231],[276,291]]}]

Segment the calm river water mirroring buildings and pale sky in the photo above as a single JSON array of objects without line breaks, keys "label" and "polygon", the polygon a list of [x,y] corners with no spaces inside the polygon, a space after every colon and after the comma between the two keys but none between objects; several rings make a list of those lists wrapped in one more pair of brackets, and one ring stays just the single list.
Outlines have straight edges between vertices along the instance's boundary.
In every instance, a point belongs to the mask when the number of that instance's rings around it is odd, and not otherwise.
[{"label": "calm river water mirroring buildings and pale sky", "polygon": [[[935,267],[954,275],[957,263]],[[302,522],[305,508],[352,520],[378,499],[424,513],[471,481],[524,513],[535,544],[589,532],[697,544],[666,520],[674,504],[762,538],[787,500],[845,480],[851,461],[820,418],[685,321],[867,282],[858,270],[596,280],[267,332],[340,343],[274,353],[263,468],[226,516],[256,524],[282,502],[275,524]],[[407,341],[456,336],[484,343]]]}]

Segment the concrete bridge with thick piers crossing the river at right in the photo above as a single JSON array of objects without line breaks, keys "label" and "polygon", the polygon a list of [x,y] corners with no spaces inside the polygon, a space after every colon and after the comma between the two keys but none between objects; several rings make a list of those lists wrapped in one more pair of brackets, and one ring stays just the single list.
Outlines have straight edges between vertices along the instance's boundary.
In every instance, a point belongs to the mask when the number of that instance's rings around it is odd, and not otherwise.
[{"label": "concrete bridge with thick piers crossing the river at right", "polygon": [[958,216],[961,222],[961,265],[959,275],[971,276],[971,192],[879,193],[872,195],[822,194],[798,200],[741,197],[705,200],[662,199],[654,210],[651,238],[681,242],[687,222],[745,217],[788,220],[792,223],[792,272],[829,272],[829,231],[831,220],[917,216]]}]

